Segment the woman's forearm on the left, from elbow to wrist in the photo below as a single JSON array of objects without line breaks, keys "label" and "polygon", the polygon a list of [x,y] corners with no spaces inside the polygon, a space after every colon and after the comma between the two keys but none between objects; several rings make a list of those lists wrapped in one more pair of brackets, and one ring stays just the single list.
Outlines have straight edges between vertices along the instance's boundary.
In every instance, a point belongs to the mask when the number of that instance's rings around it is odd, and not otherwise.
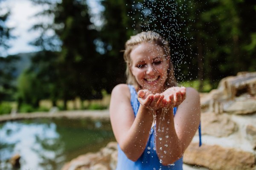
[{"label": "woman's forearm on the left, from elbow to wrist", "polygon": [[140,158],[148,142],[152,122],[152,111],[140,106],[131,128],[119,142],[122,151],[128,159],[136,161]]}]

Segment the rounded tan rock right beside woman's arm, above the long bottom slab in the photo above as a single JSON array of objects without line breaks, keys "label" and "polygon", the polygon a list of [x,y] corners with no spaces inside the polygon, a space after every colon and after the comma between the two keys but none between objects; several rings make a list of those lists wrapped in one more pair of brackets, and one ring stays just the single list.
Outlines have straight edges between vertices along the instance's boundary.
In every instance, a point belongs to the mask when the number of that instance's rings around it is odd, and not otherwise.
[{"label": "rounded tan rock right beside woman's arm, above the long bottom slab", "polygon": [[229,136],[237,130],[235,122],[225,115],[212,112],[201,114],[201,133],[217,137]]}]

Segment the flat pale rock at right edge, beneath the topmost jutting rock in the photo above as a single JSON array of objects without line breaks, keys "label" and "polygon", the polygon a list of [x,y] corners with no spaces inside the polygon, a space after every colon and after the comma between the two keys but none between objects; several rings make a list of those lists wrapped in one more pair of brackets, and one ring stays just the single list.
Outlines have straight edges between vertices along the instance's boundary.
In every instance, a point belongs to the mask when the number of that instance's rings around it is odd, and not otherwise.
[{"label": "flat pale rock at right edge, beneath the topmost jutting rock", "polygon": [[233,114],[248,114],[256,112],[256,100],[242,100],[242,101],[234,101],[231,105],[225,107],[224,112],[233,113]]}]

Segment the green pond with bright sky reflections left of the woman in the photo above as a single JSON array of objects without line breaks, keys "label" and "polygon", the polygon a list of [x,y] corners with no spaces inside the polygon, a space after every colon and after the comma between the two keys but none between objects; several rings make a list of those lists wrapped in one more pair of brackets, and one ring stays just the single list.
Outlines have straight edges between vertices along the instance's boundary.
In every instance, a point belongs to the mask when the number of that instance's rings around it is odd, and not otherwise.
[{"label": "green pond with bright sky reflections left of the woman", "polygon": [[0,169],[20,154],[20,170],[60,170],[81,154],[115,141],[110,122],[33,119],[0,123]]}]

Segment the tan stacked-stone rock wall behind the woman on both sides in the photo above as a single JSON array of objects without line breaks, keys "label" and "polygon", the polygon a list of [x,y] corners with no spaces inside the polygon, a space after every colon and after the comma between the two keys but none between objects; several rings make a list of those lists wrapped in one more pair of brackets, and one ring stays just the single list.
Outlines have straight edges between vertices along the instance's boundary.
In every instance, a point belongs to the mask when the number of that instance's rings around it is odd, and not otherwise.
[{"label": "tan stacked-stone rock wall behind the woman on both sides", "polygon": [[[256,72],[226,77],[218,89],[201,95],[202,143],[198,133],[183,155],[183,162],[212,170],[256,169]],[[87,153],[62,170],[115,170],[117,144]],[[203,166],[203,167],[201,167]],[[185,169],[184,169],[185,170]]]}]

